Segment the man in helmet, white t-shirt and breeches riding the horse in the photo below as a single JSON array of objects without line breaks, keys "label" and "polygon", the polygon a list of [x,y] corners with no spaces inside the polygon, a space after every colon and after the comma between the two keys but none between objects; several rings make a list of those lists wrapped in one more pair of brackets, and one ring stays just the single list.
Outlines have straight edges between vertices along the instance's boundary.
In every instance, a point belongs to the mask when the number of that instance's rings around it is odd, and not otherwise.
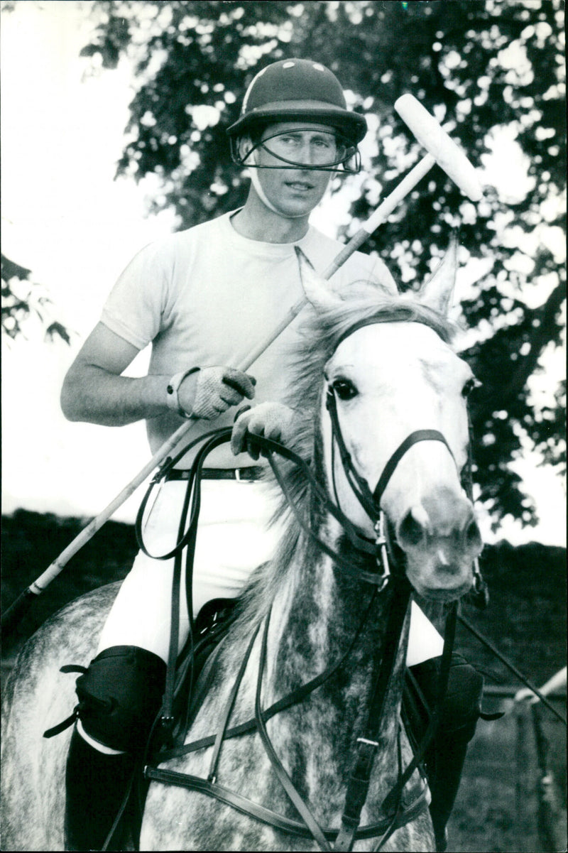
[{"label": "man in helmet, white t-shirt and breeches riding the horse", "polygon": [[[231,368],[252,342],[273,328],[301,294],[299,247],[316,270],[340,244],[310,226],[333,173],[359,170],[357,145],[365,119],[346,107],[333,73],[312,61],[290,59],[264,67],[252,80],[241,117],[229,127],[234,160],[250,171],[246,203],[210,222],[142,249],[113,287],[101,320],[67,373],[61,392],[72,421],[121,426],[147,422],[153,453],[181,419],[227,426],[230,407],[246,397],[257,405],[241,414],[233,453],[213,451],[203,472],[199,536],[194,554],[193,615],[208,602],[234,599],[255,566],[270,558],[278,529],[262,480],[265,467],[241,452],[246,431],[286,443],[303,415],[279,401],[293,354],[293,322],[254,366],[254,377]],[[341,289],[356,280],[396,286],[380,260],[356,252],[333,276]],[[148,375],[124,376],[137,353],[152,345]],[[274,404],[270,404],[274,403]],[[154,554],[177,540],[191,451],[168,475],[144,530]],[[136,556],[102,630],[95,659],[78,678],[78,720],[67,759],[66,837],[69,850],[101,849],[145,746],[165,687],[171,628],[174,560]],[[441,641],[419,612],[408,663],[421,692],[433,701]],[[183,609],[179,648],[190,619]],[[465,662],[452,668],[445,724],[430,749],[432,818],[443,848],[478,718],[481,679]],[[452,705],[449,708],[448,702]]]}]

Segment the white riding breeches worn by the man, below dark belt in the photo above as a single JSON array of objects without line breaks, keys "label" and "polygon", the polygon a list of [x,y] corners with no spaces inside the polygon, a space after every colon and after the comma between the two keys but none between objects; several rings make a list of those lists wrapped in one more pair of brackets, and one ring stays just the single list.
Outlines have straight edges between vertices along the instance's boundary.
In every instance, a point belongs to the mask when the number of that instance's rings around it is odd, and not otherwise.
[{"label": "white riding breeches worn by the man, below dark belt", "polygon": [[[186,488],[180,481],[162,485],[143,529],[150,554],[167,554],[174,547]],[[251,572],[270,560],[282,533],[281,525],[269,526],[274,509],[274,493],[263,483],[203,480],[192,587],[194,616],[207,601],[235,598]],[[97,653],[111,646],[138,646],[167,661],[173,566],[173,559],[137,554],[102,630]],[[189,630],[185,559],[182,572],[180,649]],[[437,657],[442,646],[438,631],[413,602],[407,663]]]}]

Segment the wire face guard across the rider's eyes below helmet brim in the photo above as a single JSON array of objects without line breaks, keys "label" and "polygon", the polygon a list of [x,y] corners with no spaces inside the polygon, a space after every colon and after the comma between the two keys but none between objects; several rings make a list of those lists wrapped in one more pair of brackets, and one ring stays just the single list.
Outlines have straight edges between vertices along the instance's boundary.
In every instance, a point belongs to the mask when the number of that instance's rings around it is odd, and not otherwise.
[{"label": "wire face guard across the rider's eyes below helmet brim", "polygon": [[[308,142],[309,159],[295,160],[298,149],[305,148],[302,134],[312,133],[315,140]],[[241,166],[255,169],[302,169],[305,171],[333,171],[356,175],[361,170],[359,149],[340,131],[315,131],[313,125],[294,127],[292,130],[275,131],[253,142],[251,136],[232,136],[231,158]],[[254,154],[258,151],[270,154],[278,162],[258,163]]]}]

